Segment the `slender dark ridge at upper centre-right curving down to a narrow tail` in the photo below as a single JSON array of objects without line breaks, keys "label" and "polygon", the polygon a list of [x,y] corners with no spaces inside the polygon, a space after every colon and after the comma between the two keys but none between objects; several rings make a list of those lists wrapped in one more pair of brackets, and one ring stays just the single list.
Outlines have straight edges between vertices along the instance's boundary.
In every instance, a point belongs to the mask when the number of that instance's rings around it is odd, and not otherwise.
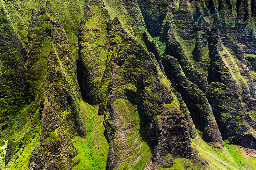
[{"label": "slender dark ridge at upper centre-right curving down to a narrow tail", "polygon": [[[181,18],[186,20],[180,23],[178,19]],[[163,34],[160,39],[166,41],[165,53],[176,58],[188,80],[205,92],[208,86],[207,79],[189,61],[191,57],[193,58],[193,55],[191,55],[193,54],[193,48],[187,46],[187,44],[193,43],[199,27],[193,22],[187,11],[172,9],[165,17],[162,29]],[[183,31],[183,29],[186,31]]]}]

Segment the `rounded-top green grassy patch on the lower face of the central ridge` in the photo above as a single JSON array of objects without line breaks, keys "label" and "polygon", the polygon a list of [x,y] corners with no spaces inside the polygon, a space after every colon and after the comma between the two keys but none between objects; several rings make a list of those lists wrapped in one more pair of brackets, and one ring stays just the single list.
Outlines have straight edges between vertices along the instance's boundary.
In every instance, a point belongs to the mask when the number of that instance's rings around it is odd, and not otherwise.
[{"label": "rounded-top green grassy patch on the lower face of the central ridge", "polygon": [[[152,157],[153,150],[148,146],[145,129],[140,124],[140,115],[137,106],[132,105],[129,100],[117,99],[114,103],[119,119],[122,119],[119,130],[124,130],[125,139],[116,136],[117,150],[115,153],[119,157],[116,162],[119,169],[144,169],[148,164],[148,158]],[[126,149],[130,148],[128,152]],[[123,154],[126,152],[127,154]],[[122,158],[122,159],[120,159]]]}]

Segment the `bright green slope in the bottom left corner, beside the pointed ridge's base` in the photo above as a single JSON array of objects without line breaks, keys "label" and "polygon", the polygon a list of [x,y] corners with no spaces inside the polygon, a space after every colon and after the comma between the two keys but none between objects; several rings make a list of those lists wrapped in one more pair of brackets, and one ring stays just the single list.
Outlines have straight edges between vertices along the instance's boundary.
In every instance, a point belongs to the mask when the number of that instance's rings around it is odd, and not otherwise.
[{"label": "bright green slope in the bottom left corner, beside the pointed ridge's base", "polygon": [[[41,130],[41,121],[38,111],[30,117],[32,104],[20,112],[13,120],[15,123],[6,129],[11,131],[12,140],[11,159],[6,169],[27,169],[28,160],[34,146],[38,144]],[[30,118],[29,118],[30,117]],[[7,141],[4,147],[6,148]],[[0,169],[4,169],[4,163],[0,164]]]}]

